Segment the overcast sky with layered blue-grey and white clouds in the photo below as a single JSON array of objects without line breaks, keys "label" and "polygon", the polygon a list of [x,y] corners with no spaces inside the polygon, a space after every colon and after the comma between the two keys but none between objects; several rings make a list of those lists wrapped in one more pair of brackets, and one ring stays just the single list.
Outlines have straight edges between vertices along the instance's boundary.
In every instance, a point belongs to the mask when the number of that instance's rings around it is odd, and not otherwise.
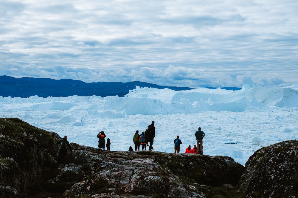
[{"label": "overcast sky with layered blue-grey and white clouds", "polygon": [[298,84],[297,0],[0,0],[0,75]]}]

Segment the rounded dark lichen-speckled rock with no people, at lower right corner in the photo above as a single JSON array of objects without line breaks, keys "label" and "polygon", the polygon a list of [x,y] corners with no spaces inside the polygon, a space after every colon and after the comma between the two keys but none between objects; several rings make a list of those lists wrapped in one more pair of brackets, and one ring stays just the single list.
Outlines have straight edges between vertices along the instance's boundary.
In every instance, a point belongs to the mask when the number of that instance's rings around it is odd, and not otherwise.
[{"label": "rounded dark lichen-speckled rock with no people, at lower right corner", "polygon": [[237,186],[252,198],[298,197],[298,142],[279,142],[256,151]]}]

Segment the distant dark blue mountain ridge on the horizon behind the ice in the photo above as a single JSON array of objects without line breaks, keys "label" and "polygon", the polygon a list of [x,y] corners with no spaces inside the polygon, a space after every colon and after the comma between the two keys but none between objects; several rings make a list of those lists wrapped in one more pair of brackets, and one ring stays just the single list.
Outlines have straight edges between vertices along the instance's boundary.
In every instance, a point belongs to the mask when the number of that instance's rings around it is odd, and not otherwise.
[{"label": "distant dark blue mountain ridge on the horizon behind the ice", "polygon": [[[175,91],[190,90],[190,87],[161,86],[139,81],[134,82],[95,82],[85,83],[80,80],[50,78],[15,78],[10,76],[0,76],[0,96],[27,98],[30,96],[39,96],[47,98],[67,97],[67,96],[116,96],[123,97],[129,90],[139,87],[169,88]],[[209,87],[210,88],[210,87]],[[214,89],[214,88],[212,88]],[[226,87],[222,89],[239,90],[236,87]]]}]

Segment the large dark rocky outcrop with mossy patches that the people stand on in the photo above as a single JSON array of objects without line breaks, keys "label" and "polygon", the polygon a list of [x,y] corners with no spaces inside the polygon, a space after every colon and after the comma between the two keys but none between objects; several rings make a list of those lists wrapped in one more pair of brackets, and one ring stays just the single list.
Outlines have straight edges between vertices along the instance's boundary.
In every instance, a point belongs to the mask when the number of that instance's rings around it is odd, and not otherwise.
[{"label": "large dark rocky outcrop with mossy patches that the people stand on", "polygon": [[17,118],[0,119],[0,132],[0,198],[241,195],[235,186],[244,167],[230,157],[104,151],[71,143],[67,164],[58,164],[58,134]]}]

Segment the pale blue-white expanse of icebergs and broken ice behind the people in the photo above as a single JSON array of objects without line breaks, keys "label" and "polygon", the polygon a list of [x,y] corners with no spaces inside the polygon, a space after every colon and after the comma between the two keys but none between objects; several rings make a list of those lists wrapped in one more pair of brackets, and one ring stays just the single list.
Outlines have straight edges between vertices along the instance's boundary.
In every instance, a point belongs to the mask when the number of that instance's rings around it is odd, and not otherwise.
[{"label": "pale blue-white expanse of icebergs and broken ice behind the people", "polygon": [[230,156],[242,165],[263,146],[297,140],[297,107],[298,85],[244,85],[238,91],[136,87],[124,97],[104,98],[0,96],[1,118],[20,118],[60,137],[67,135],[69,142],[97,148],[96,135],[103,130],[105,139],[111,139],[111,151],[128,151],[134,148],[135,131],[141,134],[155,121],[155,151],[174,153],[179,135],[184,153],[196,144],[194,133],[201,127],[205,155]]}]

